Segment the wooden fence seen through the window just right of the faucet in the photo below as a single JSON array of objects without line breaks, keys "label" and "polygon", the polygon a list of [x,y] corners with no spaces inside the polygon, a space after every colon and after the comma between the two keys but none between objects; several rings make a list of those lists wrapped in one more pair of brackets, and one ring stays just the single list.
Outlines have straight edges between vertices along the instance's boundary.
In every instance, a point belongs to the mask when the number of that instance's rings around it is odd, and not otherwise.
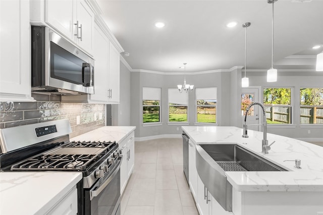
[{"label": "wooden fence seen through the window just right of the faucet", "polygon": [[264,105],[266,119],[281,124],[291,123],[291,107],[290,106],[272,106]]}]

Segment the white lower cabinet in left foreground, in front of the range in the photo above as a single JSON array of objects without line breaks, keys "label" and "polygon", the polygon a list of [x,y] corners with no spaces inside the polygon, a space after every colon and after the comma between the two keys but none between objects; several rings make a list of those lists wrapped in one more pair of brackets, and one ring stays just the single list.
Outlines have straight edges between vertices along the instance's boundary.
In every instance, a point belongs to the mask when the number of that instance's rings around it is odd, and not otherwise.
[{"label": "white lower cabinet in left foreground, in front of the range", "polygon": [[77,189],[76,186],[68,192],[49,212],[46,214],[77,214]]}]

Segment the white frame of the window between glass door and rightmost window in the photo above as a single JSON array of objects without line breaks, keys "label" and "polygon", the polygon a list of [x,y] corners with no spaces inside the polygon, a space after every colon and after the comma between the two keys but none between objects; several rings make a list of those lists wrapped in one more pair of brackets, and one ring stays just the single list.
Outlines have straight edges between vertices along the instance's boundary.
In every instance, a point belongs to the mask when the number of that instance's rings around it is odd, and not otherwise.
[{"label": "white frame of the window between glass door and rightmost window", "polygon": [[294,87],[293,86],[265,86],[265,87],[262,87],[262,93],[261,93],[261,100],[262,100],[262,103],[264,105],[264,107],[266,107],[266,104],[264,103],[263,99],[264,99],[264,96],[263,96],[263,91],[264,89],[267,89],[267,88],[287,88],[287,89],[291,89],[291,95],[290,95],[290,98],[291,98],[291,101],[290,101],[290,105],[285,105],[285,104],[276,104],[276,105],[271,105],[272,107],[279,107],[279,106],[290,106],[290,120],[291,122],[289,124],[271,124],[271,123],[267,123],[267,127],[290,127],[290,128],[295,128],[295,118],[294,118],[294,112],[295,112],[295,105],[294,105]]}]

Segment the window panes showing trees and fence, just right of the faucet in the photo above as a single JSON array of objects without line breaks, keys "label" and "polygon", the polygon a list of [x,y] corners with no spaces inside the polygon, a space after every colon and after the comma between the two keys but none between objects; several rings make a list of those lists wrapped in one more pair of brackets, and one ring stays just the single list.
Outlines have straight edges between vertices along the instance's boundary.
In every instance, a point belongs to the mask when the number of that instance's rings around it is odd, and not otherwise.
[{"label": "window panes showing trees and fence, just right of the faucet", "polygon": [[291,124],[291,88],[263,89],[263,105],[268,124]]}]

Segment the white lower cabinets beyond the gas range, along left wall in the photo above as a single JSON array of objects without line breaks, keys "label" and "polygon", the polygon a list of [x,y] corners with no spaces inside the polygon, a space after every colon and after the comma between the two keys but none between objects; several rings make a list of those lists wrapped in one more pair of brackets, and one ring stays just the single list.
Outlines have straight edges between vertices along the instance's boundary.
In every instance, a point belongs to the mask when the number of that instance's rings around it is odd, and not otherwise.
[{"label": "white lower cabinets beyond the gas range, along left wall", "polygon": [[135,132],[130,133],[119,143],[119,147],[123,155],[120,167],[120,193],[122,194],[135,166]]}]

